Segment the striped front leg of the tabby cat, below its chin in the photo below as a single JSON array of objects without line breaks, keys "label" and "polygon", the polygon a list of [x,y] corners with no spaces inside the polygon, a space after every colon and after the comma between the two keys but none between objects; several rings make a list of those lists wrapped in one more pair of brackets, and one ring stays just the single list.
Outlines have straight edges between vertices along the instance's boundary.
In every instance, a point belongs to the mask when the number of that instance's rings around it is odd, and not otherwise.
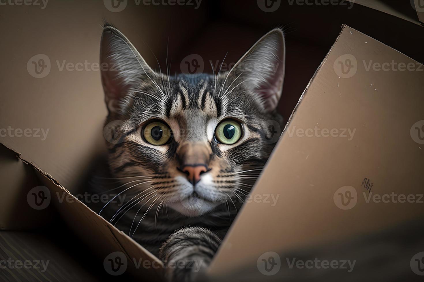
[{"label": "striped front leg of the tabby cat, below its chin", "polygon": [[192,282],[202,277],[220,242],[212,231],[201,227],[184,227],[172,233],[159,253],[167,281]]}]

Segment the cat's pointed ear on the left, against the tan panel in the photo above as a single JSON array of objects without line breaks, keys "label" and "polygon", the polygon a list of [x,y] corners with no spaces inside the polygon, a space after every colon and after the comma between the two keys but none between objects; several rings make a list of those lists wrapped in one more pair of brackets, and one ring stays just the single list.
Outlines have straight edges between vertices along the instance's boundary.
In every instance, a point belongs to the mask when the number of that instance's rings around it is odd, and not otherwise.
[{"label": "cat's pointed ear on the left, against the tan panel", "polygon": [[125,112],[131,104],[131,89],[137,89],[142,79],[156,76],[128,38],[110,25],[102,33],[100,69],[109,112]]}]

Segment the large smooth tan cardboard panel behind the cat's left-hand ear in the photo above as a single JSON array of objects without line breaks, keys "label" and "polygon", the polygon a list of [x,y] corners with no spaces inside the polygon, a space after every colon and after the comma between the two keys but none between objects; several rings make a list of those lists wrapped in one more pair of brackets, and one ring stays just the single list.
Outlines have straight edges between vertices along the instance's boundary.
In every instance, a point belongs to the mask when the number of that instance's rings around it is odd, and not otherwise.
[{"label": "large smooth tan cardboard panel behind the cat's left-hand ear", "polygon": [[[107,19],[125,30],[152,66],[156,66],[156,59],[149,48],[158,55],[166,54],[168,38],[177,48],[200,28],[186,25],[184,36],[173,36],[165,32],[167,23],[180,16],[173,7],[156,9],[155,5],[137,6],[134,1],[119,13],[108,11],[103,1],[86,0],[47,3],[45,9],[31,5],[1,7],[0,36],[7,41],[0,43],[5,97],[0,105],[0,129],[31,129],[31,137],[21,132],[20,137],[0,136],[0,142],[42,167],[72,192],[78,189],[81,175],[104,143],[107,112],[99,67],[95,66],[103,21]],[[187,9],[186,17],[201,23],[202,9],[204,6]],[[154,30],[151,22],[157,22]],[[3,45],[6,42],[8,47]],[[47,57],[37,57],[39,54]],[[45,77],[31,75],[33,66],[31,62],[28,66],[28,61],[33,56],[35,62],[44,59],[49,63]],[[46,138],[40,129],[47,133]]]}]

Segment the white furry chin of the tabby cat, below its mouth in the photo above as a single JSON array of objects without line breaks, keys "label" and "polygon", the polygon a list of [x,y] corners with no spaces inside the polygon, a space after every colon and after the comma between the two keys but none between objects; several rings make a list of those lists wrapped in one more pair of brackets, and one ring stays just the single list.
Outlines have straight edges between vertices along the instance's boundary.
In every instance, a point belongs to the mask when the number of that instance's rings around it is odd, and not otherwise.
[{"label": "white furry chin of the tabby cat, below its mouth", "polygon": [[219,203],[211,203],[201,198],[188,198],[174,203],[169,203],[168,206],[180,214],[185,216],[201,216],[202,214],[212,211]]}]

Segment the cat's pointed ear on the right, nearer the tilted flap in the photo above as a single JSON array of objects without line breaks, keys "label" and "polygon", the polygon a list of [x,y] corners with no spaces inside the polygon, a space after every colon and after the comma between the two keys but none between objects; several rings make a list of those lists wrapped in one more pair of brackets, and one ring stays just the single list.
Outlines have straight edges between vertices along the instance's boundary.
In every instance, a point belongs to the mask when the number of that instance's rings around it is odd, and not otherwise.
[{"label": "cat's pointed ear on the right, nearer the tilted flap", "polygon": [[282,30],[274,29],[262,36],[234,65],[231,72],[243,82],[265,111],[277,107],[283,89],[285,41]]}]

